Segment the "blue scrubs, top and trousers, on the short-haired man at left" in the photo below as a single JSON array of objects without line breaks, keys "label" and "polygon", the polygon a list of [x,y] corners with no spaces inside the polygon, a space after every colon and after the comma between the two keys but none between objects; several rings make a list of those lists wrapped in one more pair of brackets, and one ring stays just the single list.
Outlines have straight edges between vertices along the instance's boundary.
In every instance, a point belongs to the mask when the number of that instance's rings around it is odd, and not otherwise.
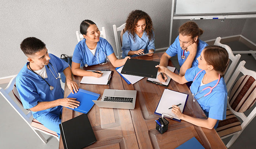
[{"label": "blue scrubs, top and trousers, on the short-haired man at left", "polygon": [[[37,74],[32,72],[27,68],[29,62],[21,69],[18,76],[16,77],[16,87],[19,92],[20,99],[22,101],[23,107],[25,109],[33,108],[38,104],[38,102],[44,101],[54,101],[59,98],[63,98],[64,90],[60,85],[60,78],[56,79],[56,73],[63,72],[68,66],[68,63],[64,60],[61,60],[59,57],[56,57],[52,54],[49,54],[50,63],[46,67],[46,73],[48,78],[45,80],[54,87],[53,90],[50,90],[49,85]],[[54,76],[55,77],[54,77]],[[33,112],[33,117],[41,122],[46,128],[57,132],[60,136],[59,124],[61,123],[60,115],[62,112],[62,106],[56,106],[50,109]]]}]

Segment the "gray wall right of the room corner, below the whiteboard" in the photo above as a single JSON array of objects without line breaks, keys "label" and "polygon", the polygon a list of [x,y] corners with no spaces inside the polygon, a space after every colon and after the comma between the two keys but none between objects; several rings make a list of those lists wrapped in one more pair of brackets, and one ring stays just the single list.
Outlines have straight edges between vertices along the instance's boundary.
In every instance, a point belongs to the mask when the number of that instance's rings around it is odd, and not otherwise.
[{"label": "gray wall right of the room corner, below the whiteboard", "polygon": [[256,44],[256,19],[246,19],[242,35]]}]

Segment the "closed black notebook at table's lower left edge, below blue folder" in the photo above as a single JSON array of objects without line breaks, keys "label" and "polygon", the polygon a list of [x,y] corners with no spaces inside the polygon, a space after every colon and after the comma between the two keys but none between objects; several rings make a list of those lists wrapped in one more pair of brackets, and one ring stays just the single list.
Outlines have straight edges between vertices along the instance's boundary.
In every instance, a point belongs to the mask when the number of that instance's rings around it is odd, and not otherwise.
[{"label": "closed black notebook at table's lower left edge, below blue folder", "polygon": [[87,114],[61,123],[60,133],[65,149],[81,149],[97,141]]}]

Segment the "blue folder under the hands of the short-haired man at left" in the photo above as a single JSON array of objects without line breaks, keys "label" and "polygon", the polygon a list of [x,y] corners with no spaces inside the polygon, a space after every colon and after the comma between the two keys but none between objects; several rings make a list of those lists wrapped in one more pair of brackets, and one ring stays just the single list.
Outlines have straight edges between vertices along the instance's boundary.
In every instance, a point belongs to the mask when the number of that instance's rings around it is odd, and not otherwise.
[{"label": "blue folder under the hands of the short-haired man at left", "polygon": [[93,107],[93,100],[98,100],[99,96],[100,94],[79,88],[79,91],[77,93],[70,93],[67,98],[76,98],[76,100],[80,102],[80,106],[75,109],[69,109],[86,114]]}]

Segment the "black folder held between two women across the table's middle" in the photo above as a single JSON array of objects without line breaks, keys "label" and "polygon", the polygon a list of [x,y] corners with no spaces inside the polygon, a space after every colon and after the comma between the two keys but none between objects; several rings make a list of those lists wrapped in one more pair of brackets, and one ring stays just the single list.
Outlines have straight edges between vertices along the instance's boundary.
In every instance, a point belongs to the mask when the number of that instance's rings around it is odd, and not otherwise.
[{"label": "black folder held between two women across the table's middle", "polygon": [[138,60],[138,59],[127,59],[124,67],[121,71],[125,75],[157,78],[158,61]]}]

